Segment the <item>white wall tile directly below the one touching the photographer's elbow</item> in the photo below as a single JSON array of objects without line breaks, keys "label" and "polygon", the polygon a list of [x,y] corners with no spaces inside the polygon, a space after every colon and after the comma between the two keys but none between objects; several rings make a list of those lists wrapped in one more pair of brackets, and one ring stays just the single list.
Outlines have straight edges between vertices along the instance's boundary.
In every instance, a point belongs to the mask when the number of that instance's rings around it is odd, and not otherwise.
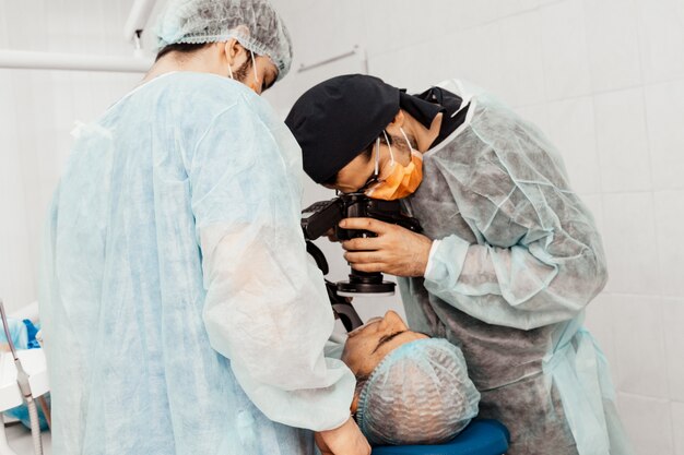
[{"label": "white wall tile directly below the one touching the photographer's elbow", "polygon": [[614,295],[615,363],[621,392],[669,398],[662,302],[658,297]]}]

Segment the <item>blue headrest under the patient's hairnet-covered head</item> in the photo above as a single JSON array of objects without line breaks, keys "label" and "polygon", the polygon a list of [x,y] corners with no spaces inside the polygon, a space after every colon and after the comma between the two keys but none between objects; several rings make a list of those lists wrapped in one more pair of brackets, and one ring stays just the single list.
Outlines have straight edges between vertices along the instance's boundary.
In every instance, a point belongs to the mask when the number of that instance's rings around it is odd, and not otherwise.
[{"label": "blue headrest under the patient's hairnet-covered head", "polygon": [[503,455],[510,434],[496,420],[473,420],[453,440],[438,445],[377,446],[373,455]]}]

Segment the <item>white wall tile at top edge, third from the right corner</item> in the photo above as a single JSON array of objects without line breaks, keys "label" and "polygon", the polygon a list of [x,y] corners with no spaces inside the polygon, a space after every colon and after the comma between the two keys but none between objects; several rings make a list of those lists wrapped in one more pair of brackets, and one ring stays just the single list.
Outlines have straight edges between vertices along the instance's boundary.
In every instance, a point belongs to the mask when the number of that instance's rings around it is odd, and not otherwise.
[{"label": "white wall tile at top edge, third from the right corner", "polygon": [[541,10],[541,17],[547,99],[589,94],[591,76],[581,2],[551,4]]}]

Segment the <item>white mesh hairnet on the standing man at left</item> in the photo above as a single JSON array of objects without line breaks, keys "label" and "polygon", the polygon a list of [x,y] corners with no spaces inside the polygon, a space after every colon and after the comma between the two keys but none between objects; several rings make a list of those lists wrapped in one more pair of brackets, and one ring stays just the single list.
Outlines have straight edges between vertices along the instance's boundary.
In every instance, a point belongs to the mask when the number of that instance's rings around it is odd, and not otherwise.
[{"label": "white mesh hairnet on the standing man at left", "polygon": [[246,49],[268,56],[278,67],[279,80],[292,64],[290,33],[268,0],[172,0],[155,32],[160,49],[235,38]]}]

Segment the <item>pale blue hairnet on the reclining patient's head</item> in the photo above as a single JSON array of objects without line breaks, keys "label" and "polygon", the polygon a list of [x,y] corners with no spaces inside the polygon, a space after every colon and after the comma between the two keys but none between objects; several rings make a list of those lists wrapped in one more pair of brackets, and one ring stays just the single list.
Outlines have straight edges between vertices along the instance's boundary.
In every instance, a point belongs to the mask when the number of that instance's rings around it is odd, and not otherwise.
[{"label": "pale blue hairnet on the reclining patient's head", "polygon": [[356,420],[373,444],[438,444],[470,423],[479,403],[461,350],[446,339],[418,339],[373,370]]}]

